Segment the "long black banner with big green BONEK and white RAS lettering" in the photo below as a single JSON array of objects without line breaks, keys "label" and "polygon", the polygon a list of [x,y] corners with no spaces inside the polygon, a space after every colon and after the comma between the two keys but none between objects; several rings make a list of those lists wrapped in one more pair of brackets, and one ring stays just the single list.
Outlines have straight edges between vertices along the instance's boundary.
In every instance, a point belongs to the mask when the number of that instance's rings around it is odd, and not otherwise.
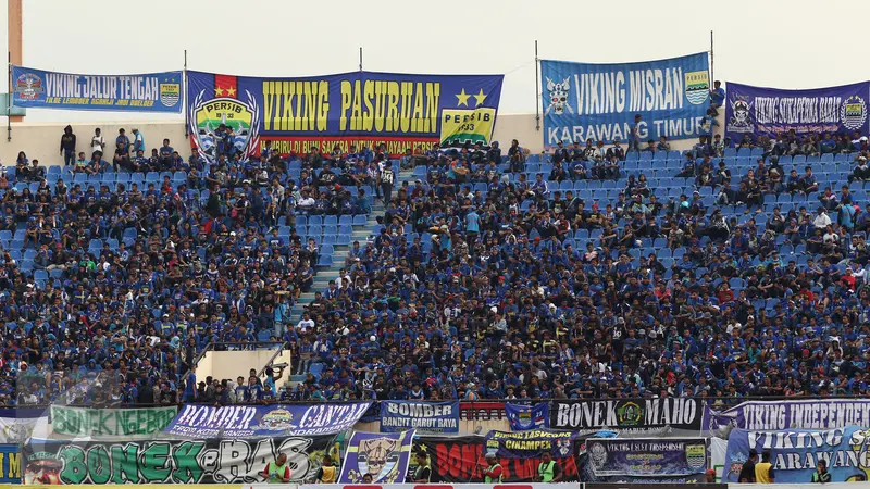
[{"label": "long black banner with big green BONEK and white RAS lettering", "polygon": [[47,442],[24,447],[25,484],[253,484],[287,454],[295,482],[314,477],[324,454],[338,460],[334,437],[259,440]]}]

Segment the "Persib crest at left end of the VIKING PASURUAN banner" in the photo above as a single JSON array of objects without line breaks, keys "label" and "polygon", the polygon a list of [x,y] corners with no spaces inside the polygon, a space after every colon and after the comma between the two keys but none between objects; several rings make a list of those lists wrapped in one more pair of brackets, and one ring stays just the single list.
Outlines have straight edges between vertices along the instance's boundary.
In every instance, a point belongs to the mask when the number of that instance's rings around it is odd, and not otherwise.
[{"label": "Persib crest at left end of the VIKING PASURUAN banner", "polygon": [[203,100],[206,91],[200,91],[190,105],[190,129],[197,152],[207,161],[217,160],[217,140],[214,130],[221,124],[233,129],[233,151],[241,152],[244,159],[254,154],[260,143],[260,108],[250,91],[245,91],[246,100],[226,97]]}]

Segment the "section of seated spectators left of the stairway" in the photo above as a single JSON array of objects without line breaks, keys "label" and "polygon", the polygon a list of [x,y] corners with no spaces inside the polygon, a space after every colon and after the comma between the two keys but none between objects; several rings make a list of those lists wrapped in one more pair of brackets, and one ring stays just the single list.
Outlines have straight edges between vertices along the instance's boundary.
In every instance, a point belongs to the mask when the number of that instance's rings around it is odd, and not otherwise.
[{"label": "section of seated spectators left of the stairway", "polygon": [[281,158],[269,145],[209,163],[167,139],[146,158],[144,135],[124,133],[111,163],[100,129],[87,158],[67,126],[64,166],[21,152],[0,172],[0,404],[197,397],[186,374],[207,344],[282,340],[311,288],[322,238],[296,217],[364,222],[389,164],[383,148]]}]

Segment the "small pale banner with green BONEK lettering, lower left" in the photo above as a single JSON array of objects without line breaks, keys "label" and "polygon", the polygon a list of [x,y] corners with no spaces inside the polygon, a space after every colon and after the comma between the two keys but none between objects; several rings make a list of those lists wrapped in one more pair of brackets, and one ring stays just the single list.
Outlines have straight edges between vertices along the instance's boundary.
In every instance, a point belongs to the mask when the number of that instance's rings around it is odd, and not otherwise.
[{"label": "small pale banner with green BONEK lettering, lower left", "polygon": [[138,408],[126,410],[51,406],[51,428],[74,437],[152,435],[162,431],[178,409]]}]

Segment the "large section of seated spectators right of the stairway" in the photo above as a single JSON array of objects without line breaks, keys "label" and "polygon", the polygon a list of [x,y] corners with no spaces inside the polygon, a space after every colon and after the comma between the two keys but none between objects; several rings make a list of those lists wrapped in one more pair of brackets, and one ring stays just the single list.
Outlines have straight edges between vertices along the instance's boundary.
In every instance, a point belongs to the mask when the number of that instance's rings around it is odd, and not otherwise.
[{"label": "large section of seated spectators right of the stairway", "polygon": [[867,150],[435,148],[291,333],[290,397],[866,394]]}]

